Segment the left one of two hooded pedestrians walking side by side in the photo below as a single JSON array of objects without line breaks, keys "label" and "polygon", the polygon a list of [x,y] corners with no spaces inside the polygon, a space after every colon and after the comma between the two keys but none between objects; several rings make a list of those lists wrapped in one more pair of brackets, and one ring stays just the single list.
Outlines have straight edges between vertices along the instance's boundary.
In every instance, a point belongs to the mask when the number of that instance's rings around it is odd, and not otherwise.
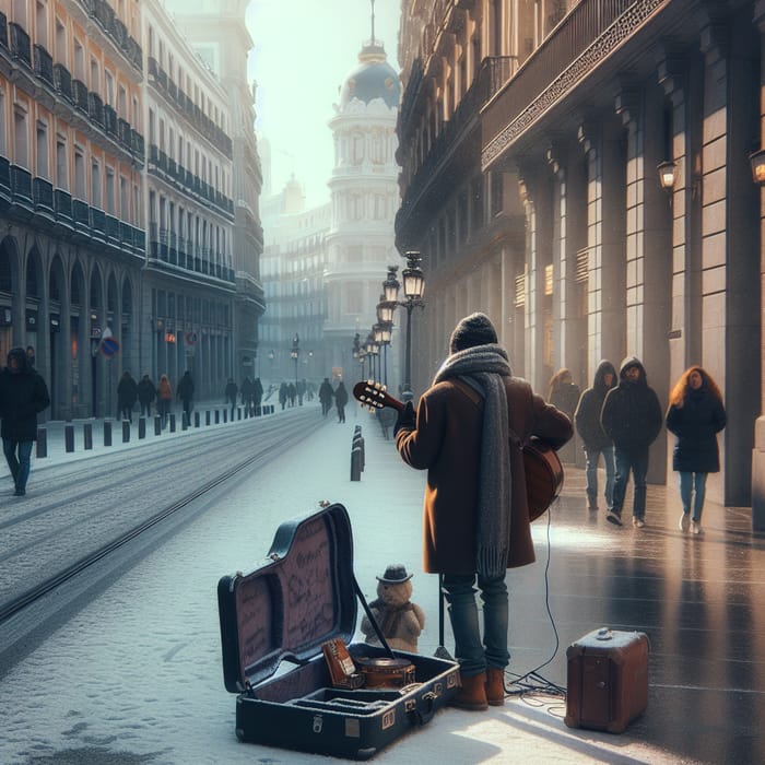
[{"label": "left one of two hooded pedestrians walking side by side", "polygon": [[587,388],[581,395],[574,412],[574,423],[585,446],[587,507],[590,510],[598,509],[598,461],[601,456],[605,467],[605,509],[610,513],[613,507],[615,472],[613,442],[605,435],[600,424],[600,411],[603,409],[605,395],[615,385],[616,369],[610,361],[604,358],[598,364],[592,387]]}]

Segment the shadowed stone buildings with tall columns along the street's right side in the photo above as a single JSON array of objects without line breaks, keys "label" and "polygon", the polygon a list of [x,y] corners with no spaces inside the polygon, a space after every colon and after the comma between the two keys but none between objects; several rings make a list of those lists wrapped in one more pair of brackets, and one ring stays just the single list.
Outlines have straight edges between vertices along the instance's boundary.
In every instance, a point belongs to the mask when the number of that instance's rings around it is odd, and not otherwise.
[{"label": "shadowed stone buildings with tall columns along the street's right side", "polygon": [[[765,527],[761,2],[404,3],[400,247],[426,256],[420,389],[486,310],[516,373],[580,386],[638,355],[663,404],[725,391],[708,494]],[[674,180],[659,185],[658,165]],[[755,438],[755,431],[757,433]],[[649,480],[674,481],[671,437]]]}]

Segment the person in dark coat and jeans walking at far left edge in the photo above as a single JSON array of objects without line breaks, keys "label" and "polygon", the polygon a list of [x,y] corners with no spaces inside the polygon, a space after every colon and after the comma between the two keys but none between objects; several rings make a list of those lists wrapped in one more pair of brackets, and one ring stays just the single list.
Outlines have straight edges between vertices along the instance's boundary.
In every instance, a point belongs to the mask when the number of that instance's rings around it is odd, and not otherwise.
[{"label": "person in dark coat and jeans walking at far left edge", "polygon": [[0,372],[0,436],[13,479],[14,496],[26,494],[32,444],[37,438],[37,414],[49,404],[48,387],[30,364],[26,351],[11,349],[8,366]]}]

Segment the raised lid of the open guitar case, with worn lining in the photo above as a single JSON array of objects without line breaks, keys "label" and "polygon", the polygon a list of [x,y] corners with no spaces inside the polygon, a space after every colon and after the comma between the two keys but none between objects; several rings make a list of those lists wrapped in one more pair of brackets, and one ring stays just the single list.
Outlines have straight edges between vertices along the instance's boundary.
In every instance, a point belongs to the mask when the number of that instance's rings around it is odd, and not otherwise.
[{"label": "raised lid of the open guitar case, with worn lining", "polygon": [[353,539],[340,504],[282,523],[266,561],[217,584],[223,678],[242,693],[283,660],[302,664],[333,637],[351,643],[357,601]]}]

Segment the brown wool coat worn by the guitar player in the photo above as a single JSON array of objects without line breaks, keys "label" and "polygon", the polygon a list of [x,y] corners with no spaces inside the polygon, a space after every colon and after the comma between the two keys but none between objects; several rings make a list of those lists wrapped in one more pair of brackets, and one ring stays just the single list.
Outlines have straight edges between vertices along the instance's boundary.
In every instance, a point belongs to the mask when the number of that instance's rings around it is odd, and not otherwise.
[{"label": "brown wool coat worn by the guitar player", "polygon": [[[510,429],[560,448],[573,435],[568,417],[518,377],[506,378]],[[423,517],[423,568],[429,573],[475,570],[475,502],[483,409],[455,382],[433,386],[420,399],[414,429],[401,428],[396,446],[404,462],[427,470]],[[507,567],[534,561],[520,447],[510,444],[513,515]]]}]

